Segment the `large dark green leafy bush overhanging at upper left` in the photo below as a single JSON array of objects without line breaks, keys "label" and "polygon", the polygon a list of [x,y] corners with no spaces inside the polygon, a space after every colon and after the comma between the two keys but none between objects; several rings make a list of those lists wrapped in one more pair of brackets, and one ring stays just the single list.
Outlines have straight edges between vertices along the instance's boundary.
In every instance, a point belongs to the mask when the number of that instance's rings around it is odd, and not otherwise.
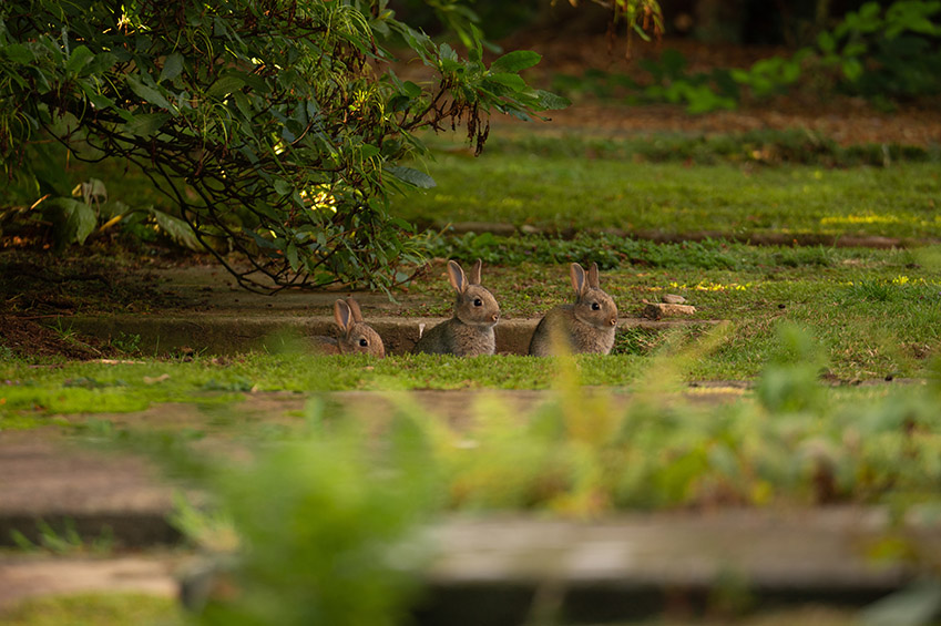
[{"label": "large dark green leafy bush overhanging at upper left", "polygon": [[[388,195],[433,185],[402,164],[425,153],[415,131],[463,123],[479,151],[491,110],[526,119],[566,104],[519,76],[538,54],[487,66],[479,31],[468,32],[461,59],[383,0],[4,2],[0,163],[58,212],[62,242],[120,211],[70,196],[60,144],[70,158],[144,172],[246,287],[386,287],[418,253]],[[434,80],[400,80],[386,41],[403,42]]]}]

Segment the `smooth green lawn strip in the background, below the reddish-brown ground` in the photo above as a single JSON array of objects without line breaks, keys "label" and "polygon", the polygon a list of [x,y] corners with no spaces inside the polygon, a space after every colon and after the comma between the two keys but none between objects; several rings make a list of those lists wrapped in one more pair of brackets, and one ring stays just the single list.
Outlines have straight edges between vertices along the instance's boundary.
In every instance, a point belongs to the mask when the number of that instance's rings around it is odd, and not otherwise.
[{"label": "smooth green lawn strip in the background, below the reddish-brown ground", "polygon": [[[559,140],[563,145],[577,140]],[[941,237],[935,163],[828,168],[695,165],[579,154],[438,154],[438,186],[393,201],[419,224],[509,222],[543,228],[683,234]]]}]

